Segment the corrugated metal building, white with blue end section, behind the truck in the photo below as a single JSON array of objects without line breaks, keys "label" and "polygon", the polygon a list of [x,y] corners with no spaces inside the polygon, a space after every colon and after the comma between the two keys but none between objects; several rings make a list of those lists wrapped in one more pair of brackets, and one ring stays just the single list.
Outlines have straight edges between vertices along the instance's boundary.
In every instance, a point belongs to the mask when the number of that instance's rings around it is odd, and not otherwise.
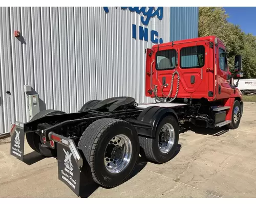
[{"label": "corrugated metal building, white with blue end section, behind the truck", "polygon": [[0,7],[0,134],[29,120],[28,94],[40,110],[65,112],[113,96],[150,101],[145,48],[178,40],[174,29],[197,37],[197,21],[196,7]]}]

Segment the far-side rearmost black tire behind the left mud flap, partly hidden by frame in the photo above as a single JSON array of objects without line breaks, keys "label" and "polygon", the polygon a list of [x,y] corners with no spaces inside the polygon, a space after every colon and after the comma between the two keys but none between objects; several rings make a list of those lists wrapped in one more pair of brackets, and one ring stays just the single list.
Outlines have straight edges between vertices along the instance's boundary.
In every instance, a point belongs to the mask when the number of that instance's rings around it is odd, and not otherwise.
[{"label": "far-side rearmost black tire behind the left mud flap, partly hidden by frame", "polygon": [[[56,111],[56,110],[44,110],[34,115],[34,117],[32,117],[30,121],[37,120],[47,115],[57,115],[57,114],[63,114],[63,113],[65,112]],[[37,135],[36,133],[27,133],[26,139],[29,146],[39,154],[45,157],[55,157],[57,155],[56,149],[41,147],[42,143],[40,141],[40,136]]]}]

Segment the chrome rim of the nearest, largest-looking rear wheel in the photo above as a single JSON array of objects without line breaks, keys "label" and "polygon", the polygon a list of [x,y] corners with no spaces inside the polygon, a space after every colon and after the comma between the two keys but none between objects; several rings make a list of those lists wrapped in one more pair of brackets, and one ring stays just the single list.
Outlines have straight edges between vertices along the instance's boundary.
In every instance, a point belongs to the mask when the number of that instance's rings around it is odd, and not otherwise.
[{"label": "chrome rim of the nearest, largest-looking rear wheel", "polygon": [[113,137],[105,149],[104,164],[111,173],[123,171],[132,157],[132,142],[126,135]]}]

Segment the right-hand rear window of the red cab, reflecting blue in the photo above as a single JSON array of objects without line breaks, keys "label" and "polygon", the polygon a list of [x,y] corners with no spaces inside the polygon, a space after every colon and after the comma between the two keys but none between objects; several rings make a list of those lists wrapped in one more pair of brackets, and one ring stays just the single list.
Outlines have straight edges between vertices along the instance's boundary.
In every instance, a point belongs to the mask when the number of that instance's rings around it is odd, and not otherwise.
[{"label": "right-hand rear window of the red cab, reflecting blue", "polygon": [[201,68],[204,66],[205,49],[203,45],[183,47],[180,50],[181,68]]}]

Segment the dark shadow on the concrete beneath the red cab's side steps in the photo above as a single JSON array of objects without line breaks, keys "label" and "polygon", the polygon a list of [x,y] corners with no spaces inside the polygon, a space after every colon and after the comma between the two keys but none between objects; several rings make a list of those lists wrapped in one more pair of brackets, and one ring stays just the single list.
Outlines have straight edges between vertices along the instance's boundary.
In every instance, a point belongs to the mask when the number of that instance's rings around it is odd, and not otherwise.
[{"label": "dark shadow on the concrete beneath the red cab's side steps", "polygon": [[210,128],[205,128],[205,127],[198,127],[193,124],[185,123],[181,125],[180,128],[180,134],[185,133],[187,131],[192,131],[197,134],[201,135],[212,135],[212,136],[221,136],[222,134],[228,132],[228,129],[225,127],[218,128],[218,129],[210,129]]}]

